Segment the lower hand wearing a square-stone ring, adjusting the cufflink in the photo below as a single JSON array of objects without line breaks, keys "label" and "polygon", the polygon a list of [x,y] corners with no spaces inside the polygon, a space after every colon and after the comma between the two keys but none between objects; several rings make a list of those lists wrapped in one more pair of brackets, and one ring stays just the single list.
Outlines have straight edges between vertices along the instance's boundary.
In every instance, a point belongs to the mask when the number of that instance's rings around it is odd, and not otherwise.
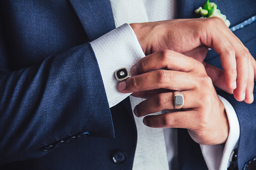
[{"label": "lower hand wearing a square-stone ring, adjusting the cufflink", "polygon": [[[187,128],[190,136],[204,145],[226,142],[229,123],[225,107],[201,62],[164,50],[140,59],[136,65],[137,69],[131,69],[133,76],[120,82],[118,89],[147,98],[134,108],[136,116],[145,116],[144,124]],[[175,109],[174,91],[182,91],[184,95],[182,109]],[[160,110],[167,113],[150,115]]]}]

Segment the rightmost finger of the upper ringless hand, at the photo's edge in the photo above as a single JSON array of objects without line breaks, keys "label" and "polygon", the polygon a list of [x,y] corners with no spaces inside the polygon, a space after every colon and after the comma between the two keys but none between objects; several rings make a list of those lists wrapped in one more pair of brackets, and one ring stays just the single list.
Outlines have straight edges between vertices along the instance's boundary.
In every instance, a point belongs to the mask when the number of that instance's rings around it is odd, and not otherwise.
[{"label": "rightmost finger of the upper ringless hand, at the photo's edge", "polygon": [[[249,59],[251,60],[251,58]],[[252,103],[253,102],[253,88],[254,88],[254,69],[252,66],[252,63],[249,64],[249,78],[248,78],[248,83],[246,87],[246,92],[245,92],[245,103]]]}]

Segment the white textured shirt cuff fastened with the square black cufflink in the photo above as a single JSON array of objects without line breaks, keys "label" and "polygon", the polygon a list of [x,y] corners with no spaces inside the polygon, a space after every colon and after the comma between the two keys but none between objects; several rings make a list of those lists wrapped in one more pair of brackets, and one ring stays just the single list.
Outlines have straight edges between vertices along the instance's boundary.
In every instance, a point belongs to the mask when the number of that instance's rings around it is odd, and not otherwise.
[{"label": "white textured shirt cuff fastened with the square black cufflink", "polygon": [[113,107],[131,93],[118,90],[115,71],[125,67],[130,73],[132,66],[145,57],[133,29],[124,24],[91,42],[97,58],[107,94],[109,107]]}]

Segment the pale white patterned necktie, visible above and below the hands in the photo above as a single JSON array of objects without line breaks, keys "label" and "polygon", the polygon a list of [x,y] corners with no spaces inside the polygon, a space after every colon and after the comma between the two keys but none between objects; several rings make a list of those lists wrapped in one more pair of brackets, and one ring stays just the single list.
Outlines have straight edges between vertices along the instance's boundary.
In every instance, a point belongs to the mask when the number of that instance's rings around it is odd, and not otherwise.
[{"label": "pale white patterned necktie, visible above and below the hands", "polygon": [[[124,23],[148,22],[143,1],[110,0],[110,2],[116,27]],[[132,109],[143,100],[130,96]],[[137,127],[137,145],[133,170],[168,169],[163,129],[147,127],[142,122],[143,118],[138,118],[135,115],[134,120]]]}]

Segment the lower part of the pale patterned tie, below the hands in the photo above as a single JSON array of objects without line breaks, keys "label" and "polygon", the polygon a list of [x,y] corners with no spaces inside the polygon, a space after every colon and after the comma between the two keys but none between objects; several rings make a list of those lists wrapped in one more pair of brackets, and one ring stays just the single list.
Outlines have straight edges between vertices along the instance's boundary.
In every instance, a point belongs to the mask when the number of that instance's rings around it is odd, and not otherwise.
[{"label": "lower part of the pale patterned tie, below the hands", "polygon": [[[142,98],[130,96],[132,110]],[[162,111],[151,115],[162,114]],[[134,117],[137,127],[137,146],[132,169],[138,170],[165,170],[168,161],[165,148],[163,129],[151,128],[143,124],[143,117]]]}]

